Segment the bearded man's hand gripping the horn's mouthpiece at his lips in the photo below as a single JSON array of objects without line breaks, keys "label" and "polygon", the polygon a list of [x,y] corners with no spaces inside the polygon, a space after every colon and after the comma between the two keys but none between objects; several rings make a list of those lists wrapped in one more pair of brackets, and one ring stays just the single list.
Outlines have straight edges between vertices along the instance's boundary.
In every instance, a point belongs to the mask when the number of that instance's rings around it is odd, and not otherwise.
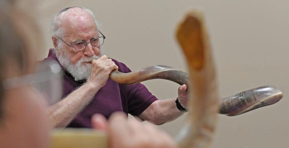
[{"label": "bearded man's hand gripping the horn's mouthpiece at his lips", "polygon": [[103,87],[113,70],[118,70],[118,66],[112,59],[108,59],[106,55],[101,56],[92,62],[91,74],[87,82]]}]

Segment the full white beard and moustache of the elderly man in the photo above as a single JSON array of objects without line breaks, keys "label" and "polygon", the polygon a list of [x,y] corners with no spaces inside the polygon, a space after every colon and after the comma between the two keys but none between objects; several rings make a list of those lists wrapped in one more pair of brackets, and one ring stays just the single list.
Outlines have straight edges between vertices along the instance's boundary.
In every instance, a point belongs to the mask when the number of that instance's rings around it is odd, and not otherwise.
[{"label": "full white beard and moustache of the elderly man", "polygon": [[84,63],[84,62],[90,62],[92,58],[98,59],[100,58],[97,55],[93,55],[89,58],[82,58],[79,59],[76,64],[72,64],[70,62],[70,55],[66,52],[65,49],[60,49],[61,54],[56,53],[56,57],[59,61],[59,63],[66,68],[66,70],[74,77],[74,79],[77,80],[88,80],[91,74],[91,68],[92,65],[90,63]]}]

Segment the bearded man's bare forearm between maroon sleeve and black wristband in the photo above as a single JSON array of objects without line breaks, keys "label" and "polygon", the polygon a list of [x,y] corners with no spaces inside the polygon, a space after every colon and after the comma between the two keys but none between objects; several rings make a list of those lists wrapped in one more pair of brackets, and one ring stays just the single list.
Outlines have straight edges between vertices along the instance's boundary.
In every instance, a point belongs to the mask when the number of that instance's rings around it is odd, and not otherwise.
[{"label": "bearded man's bare forearm between maroon sleeve and black wristband", "polygon": [[175,101],[176,99],[154,101],[139,117],[156,125],[170,122],[184,114],[176,107]]}]

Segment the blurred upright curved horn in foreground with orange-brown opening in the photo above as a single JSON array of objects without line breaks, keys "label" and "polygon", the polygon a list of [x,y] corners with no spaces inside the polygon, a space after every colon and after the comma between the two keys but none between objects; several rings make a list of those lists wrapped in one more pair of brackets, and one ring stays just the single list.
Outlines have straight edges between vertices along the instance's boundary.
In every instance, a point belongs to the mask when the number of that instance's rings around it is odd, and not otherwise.
[{"label": "blurred upright curved horn in foreground with orange-brown opening", "polygon": [[216,74],[200,12],[187,14],[176,32],[190,74],[188,120],[177,137],[182,148],[205,148],[211,143],[219,112]]}]

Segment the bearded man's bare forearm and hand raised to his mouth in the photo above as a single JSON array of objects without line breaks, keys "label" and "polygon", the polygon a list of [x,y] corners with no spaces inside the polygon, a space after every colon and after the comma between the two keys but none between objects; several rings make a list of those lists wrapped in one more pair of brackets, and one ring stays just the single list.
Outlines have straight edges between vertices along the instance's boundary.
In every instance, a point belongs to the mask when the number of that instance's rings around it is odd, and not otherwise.
[{"label": "bearded man's bare forearm and hand raised to his mouth", "polygon": [[118,67],[107,56],[101,56],[94,60],[87,83],[48,108],[51,125],[53,127],[66,127],[89,104],[98,90],[106,84],[109,74],[113,70],[118,70]]}]

